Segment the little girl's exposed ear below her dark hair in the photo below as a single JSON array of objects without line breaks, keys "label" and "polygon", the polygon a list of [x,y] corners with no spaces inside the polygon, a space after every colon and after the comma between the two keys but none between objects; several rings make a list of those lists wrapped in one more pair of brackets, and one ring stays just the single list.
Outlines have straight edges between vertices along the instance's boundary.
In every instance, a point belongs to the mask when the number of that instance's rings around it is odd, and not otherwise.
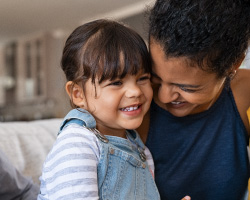
[{"label": "little girl's exposed ear below her dark hair", "polygon": [[69,95],[71,102],[77,107],[83,108],[85,106],[85,96],[83,88],[78,84],[68,81],[65,86],[66,92]]}]

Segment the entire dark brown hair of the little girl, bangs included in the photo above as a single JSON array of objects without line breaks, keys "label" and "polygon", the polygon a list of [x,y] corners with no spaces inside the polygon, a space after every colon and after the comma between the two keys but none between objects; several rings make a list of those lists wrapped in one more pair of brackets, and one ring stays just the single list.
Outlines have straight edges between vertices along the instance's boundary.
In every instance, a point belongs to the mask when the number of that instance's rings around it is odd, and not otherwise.
[{"label": "entire dark brown hair of the little girl, bangs included", "polygon": [[128,73],[150,73],[147,46],[138,33],[111,20],[95,20],[76,28],[68,37],[61,60],[68,81],[95,84],[123,78]]}]

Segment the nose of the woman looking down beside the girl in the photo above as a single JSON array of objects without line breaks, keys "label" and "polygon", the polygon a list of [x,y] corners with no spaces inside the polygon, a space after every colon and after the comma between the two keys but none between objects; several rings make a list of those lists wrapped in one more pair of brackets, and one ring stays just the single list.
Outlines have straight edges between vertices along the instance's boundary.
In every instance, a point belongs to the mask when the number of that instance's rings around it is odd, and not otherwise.
[{"label": "nose of the woman looking down beside the girl", "polygon": [[158,98],[162,103],[170,103],[179,97],[179,93],[175,91],[174,87],[168,85],[161,85],[158,89]]}]

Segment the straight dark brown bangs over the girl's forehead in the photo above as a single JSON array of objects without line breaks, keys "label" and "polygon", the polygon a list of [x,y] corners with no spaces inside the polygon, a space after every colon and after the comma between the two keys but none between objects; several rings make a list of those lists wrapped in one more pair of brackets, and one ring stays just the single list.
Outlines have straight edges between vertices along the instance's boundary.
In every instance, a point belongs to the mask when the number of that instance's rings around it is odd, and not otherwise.
[{"label": "straight dark brown bangs over the girl's forehead", "polygon": [[[131,30],[130,30],[131,31]],[[138,42],[140,41],[140,42]],[[127,74],[150,73],[151,61],[147,47],[137,34],[122,26],[101,30],[84,47],[82,55],[84,74],[92,83],[124,78]]]}]

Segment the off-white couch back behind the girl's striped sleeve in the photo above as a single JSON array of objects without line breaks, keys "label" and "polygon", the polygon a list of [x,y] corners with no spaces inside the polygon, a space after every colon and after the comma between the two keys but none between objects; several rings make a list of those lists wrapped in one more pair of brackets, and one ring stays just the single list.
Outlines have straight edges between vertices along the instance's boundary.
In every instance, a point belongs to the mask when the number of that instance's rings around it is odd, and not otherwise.
[{"label": "off-white couch back behind the girl's striped sleeve", "polygon": [[61,122],[62,119],[0,122],[0,149],[22,174],[40,184],[43,162]]}]

